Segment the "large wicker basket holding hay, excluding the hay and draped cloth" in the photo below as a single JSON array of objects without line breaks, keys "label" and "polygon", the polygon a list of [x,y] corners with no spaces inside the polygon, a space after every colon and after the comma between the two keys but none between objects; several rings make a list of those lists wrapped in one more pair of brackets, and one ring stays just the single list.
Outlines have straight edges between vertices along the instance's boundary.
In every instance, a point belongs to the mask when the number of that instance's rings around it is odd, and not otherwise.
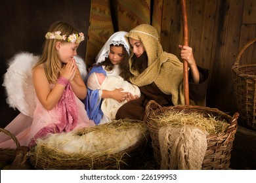
[{"label": "large wicker basket holding hay, excluding the hay and draped cloth", "polygon": [[[154,108],[152,106],[155,106]],[[208,114],[212,116],[218,116],[222,120],[229,122],[228,129],[224,133],[219,133],[218,135],[207,136],[207,150],[203,159],[202,169],[228,169],[230,165],[230,152],[232,150],[234,135],[237,129],[237,119],[238,112],[236,112],[231,118],[228,114],[221,112],[216,108],[200,107],[200,106],[186,106],[178,105],[171,107],[161,107],[156,103],[156,101],[150,101],[146,106],[146,115],[144,122],[148,125],[148,130],[150,131],[150,136],[152,140],[152,147],[154,150],[154,159],[156,161],[156,166],[158,169],[161,168],[161,152],[160,152],[160,142],[159,142],[159,127],[153,120],[154,116],[167,112],[168,110],[182,111],[184,112],[200,112],[205,117],[209,117]]]}]

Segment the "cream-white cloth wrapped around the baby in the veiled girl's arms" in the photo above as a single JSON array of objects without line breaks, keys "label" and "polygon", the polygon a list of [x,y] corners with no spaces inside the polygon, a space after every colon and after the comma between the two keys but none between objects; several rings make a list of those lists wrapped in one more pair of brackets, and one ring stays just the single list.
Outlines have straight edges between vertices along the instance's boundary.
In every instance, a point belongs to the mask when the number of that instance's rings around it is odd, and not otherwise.
[{"label": "cream-white cloth wrapped around the baby in the veiled girl's arms", "polygon": [[[108,90],[108,91],[123,88],[123,92],[129,92],[132,95],[138,95],[140,97],[139,87],[136,86],[135,84],[131,84],[123,80],[121,76],[106,76],[105,80],[100,85],[98,82],[96,73],[92,73],[88,78],[87,86],[91,90]],[[125,103],[127,103],[127,100],[119,103],[115,99],[111,99],[111,98],[102,99],[101,110],[104,114],[103,118],[105,118],[105,120],[107,118],[108,122],[110,122],[111,120],[114,120],[116,118],[117,110]]]}]

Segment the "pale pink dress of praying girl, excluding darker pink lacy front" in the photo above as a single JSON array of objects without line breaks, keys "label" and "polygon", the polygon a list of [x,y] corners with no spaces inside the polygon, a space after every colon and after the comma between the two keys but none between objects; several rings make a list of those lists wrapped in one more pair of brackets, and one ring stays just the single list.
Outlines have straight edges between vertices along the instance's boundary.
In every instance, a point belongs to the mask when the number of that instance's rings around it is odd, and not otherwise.
[{"label": "pale pink dress of praying girl, excluding darker pink lacy front", "polygon": [[[72,101],[70,100],[68,100],[67,103],[70,102],[71,105],[77,109],[75,116],[73,116],[73,118],[77,119],[76,123],[74,127],[70,127],[68,130],[67,128],[58,129],[56,133],[61,133],[62,131],[68,132],[81,127],[95,125],[92,120],[89,120],[84,104],[75,96],[74,92],[72,93],[72,95],[74,95],[76,105],[72,105]],[[39,131],[42,131],[42,129],[51,129],[53,126],[58,126],[58,124],[60,124],[60,118],[67,116],[63,114],[59,115],[60,110],[58,105],[56,105],[52,110],[46,110],[38,101],[37,97],[35,100],[37,105],[33,112],[33,118],[20,113],[9,125],[7,125],[7,127],[5,127],[5,129],[15,135],[21,146],[28,146],[32,141],[32,138],[35,137],[35,135],[38,136]],[[70,118],[71,117],[69,116],[68,119],[70,120]],[[74,119],[71,120],[74,121]],[[0,133],[0,148],[16,148],[16,144],[11,137],[4,133]]]}]

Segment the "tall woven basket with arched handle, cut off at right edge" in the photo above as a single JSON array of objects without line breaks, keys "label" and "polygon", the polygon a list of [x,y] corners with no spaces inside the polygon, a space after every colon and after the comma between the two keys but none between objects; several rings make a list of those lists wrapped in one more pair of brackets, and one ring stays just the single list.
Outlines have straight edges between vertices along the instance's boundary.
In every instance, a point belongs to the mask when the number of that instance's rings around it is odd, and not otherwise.
[{"label": "tall woven basket with arched handle, cut off at right edge", "polygon": [[239,61],[246,48],[255,41],[256,38],[245,44],[232,66],[234,90],[240,114],[239,122],[254,130],[256,130],[256,64],[240,65]]}]

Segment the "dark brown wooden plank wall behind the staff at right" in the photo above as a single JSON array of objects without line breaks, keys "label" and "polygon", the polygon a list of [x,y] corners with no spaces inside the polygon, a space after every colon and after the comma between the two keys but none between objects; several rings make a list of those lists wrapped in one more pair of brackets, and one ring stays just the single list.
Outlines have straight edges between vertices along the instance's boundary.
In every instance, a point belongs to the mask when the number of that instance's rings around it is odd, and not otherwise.
[{"label": "dark brown wooden plank wall behind the staff at right", "polygon": [[[230,115],[237,111],[232,80],[236,55],[256,37],[255,0],[186,1],[189,45],[198,66],[209,69],[207,106]],[[163,50],[179,55],[182,44],[181,1],[163,0],[161,44]],[[240,64],[256,63],[256,44],[249,46]]]}]

